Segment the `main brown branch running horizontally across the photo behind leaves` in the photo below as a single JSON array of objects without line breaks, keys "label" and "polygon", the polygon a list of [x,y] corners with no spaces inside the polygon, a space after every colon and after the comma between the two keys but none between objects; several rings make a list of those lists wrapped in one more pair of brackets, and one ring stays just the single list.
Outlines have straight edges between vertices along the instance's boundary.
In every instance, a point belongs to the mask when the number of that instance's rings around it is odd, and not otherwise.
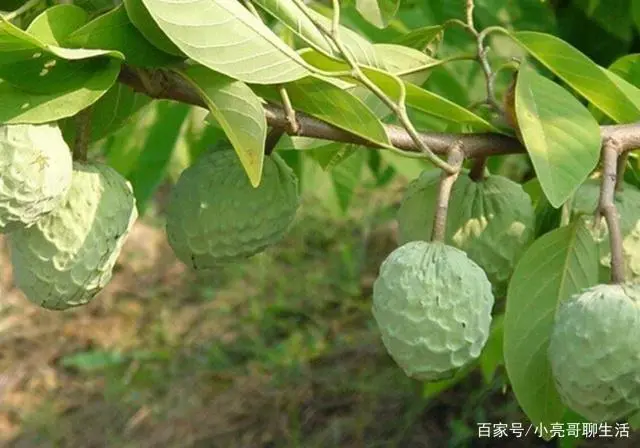
[{"label": "main brown branch running horizontally across the photo behind leaves", "polygon": [[[155,99],[168,99],[181,103],[206,108],[207,105],[198,93],[182,78],[168,71],[156,71],[152,79],[153,88],[145,87],[140,76],[131,67],[124,65],[120,71],[118,81],[128,85],[133,90],[146,94]],[[282,107],[265,103],[267,123],[274,128],[287,129],[289,121]],[[355,143],[369,148],[380,146],[362,137],[356,136],[333,126],[327,122],[296,112],[300,124],[297,135],[310,138],[321,138],[343,143]],[[384,125],[391,144],[401,150],[420,152],[409,133],[400,126]],[[640,148],[640,122],[623,125],[601,126],[603,141],[615,138],[621,151]],[[420,138],[432,151],[438,155],[446,155],[449,148],[460,142],[466,158],[486,157],[494,155],[518,154],[526,152],[518,139],[503,134],[483,132],[473,134],[452,134],[441,132],[421,132]]]}]

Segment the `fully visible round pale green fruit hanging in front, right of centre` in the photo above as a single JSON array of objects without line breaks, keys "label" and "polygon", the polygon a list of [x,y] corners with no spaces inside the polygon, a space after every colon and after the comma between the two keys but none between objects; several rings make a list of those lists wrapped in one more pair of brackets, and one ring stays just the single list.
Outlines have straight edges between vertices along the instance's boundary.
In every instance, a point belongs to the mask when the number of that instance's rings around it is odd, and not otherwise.
[{"label": "fully visible round pale green fruit hanging in front, right of centre", "polygon": [[489,337],[494,297],[480,267],[455,247],[412,241],[380,267],[373,316],[404,372],[423,381],[452,376]]}]

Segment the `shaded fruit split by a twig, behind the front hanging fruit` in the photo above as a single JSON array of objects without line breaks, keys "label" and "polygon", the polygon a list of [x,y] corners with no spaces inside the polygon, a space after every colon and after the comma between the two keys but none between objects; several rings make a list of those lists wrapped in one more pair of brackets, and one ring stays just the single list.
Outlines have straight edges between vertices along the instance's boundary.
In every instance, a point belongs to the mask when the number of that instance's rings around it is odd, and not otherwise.
[{"label": "shaded fruit split by a twig, behind the front hanging fruit", "polygon": [[[398,211],[401,243],[430,239],[439,179],[439,170],[425,171],[407,187]],[[474,182],[461,173],[451,190],[445,243],[465,251],[498,285],[531,242],[534,222],[519,184],[497,175]]]}]

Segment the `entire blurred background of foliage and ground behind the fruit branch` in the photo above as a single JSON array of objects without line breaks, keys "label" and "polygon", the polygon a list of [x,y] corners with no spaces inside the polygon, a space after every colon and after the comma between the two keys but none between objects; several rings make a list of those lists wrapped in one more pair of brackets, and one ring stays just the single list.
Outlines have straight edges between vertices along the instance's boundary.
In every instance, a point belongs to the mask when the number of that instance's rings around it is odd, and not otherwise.
[{"label": "entire blurred background of foliage and ground behind the fruit branch", "polygon": [[[21,3],[0,0],[0,10]],[[24,28],[55,3],[69,2],[42,1],[18,21]],[[106,0],[74,3],[94,15],[114,6]],[[312,3],[329,13],[326,2]],[[373,42],[398,41],[420,36],[412,30],[464,19],[464,3],[402,1],[396,18],[379,29],[347,1],[342,23]],[[479,0],[475,14],[480,29],[499,24],[550,33],[603,67],[640,51],[636,0]],[[288,29],[275,21],[272,25],[284,40],[294,39]],[[474,44],[462,30],[448,30],[439,57],[473,52]],[[491,49],[490,58],[522,56],[501,36],[491,39]],[[629,83],[640,86],[635,65],[617,67]],[[509,81],[508,71],[497,76],[500,98]],[[465,107],[486,96],[484,75],[475,61],[437,67],[422,82]],[[12,288],[9,263],[0,258],[3,444],[577,444],[535,436],[517,441],[477,438],[479,422],[528,425],[501,363],[499,320],[487,348],[494,361],[473,365],[470,373],[464,372],[468,376],[452,381],[410,380],[386,354],[371,317],[371,287],[381,261],[397,246],[395,212],[402,191],[428,164],[388,151],[353,151],[350,145],[318,146],[304,139],[294,144],[285,137],[277,150],[300,176],[304,198],[292,231],[278,247],[245,263],[196,275],[166,244],[166,196],[181,171],[224,133],[215,122],[203,125],[203,109],[149,103],[143,95],[119,88],[94,111],[100,117],[94,118],[94,137],[100,138],[89,156],[108,162],[131,181],[144,218],[108,289],[77,310],[51,313],[31,305]],[[115,108],[125,90],[128,103]],[[128,124],[112,133],[125,119]],[[420,129],[464,130],[464,123],[425,114],[412,119]],[[609,122],[604,117],[600,121]],[[71,139],[72,123],[61,124]],[[304,144],[311,149],[303,157],[299,149]],[[494,157],[488,167],[518,182],[533,174],[525,155]],[[640,186],[639,170],[631,154],[625,180]],[[547,208],[540,217],[538,234],[553,228],[559,214]],[[586,440],[580,446],[637,442],[632,436],[610,443]]]}]

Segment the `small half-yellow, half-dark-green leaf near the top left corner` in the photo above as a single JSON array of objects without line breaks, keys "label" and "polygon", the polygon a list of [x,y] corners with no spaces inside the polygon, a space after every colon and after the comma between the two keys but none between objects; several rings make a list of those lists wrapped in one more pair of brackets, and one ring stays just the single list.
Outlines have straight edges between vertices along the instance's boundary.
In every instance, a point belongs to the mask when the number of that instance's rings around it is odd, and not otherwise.
[{"label": "small half-yellow, half-dark-green leaf near the top left corner", "polygon": [[62,45],[67,36],[83,26],[89,16],[76,5],[56,5],[48,8],[27,27],[27,33],[44,44]]}]

